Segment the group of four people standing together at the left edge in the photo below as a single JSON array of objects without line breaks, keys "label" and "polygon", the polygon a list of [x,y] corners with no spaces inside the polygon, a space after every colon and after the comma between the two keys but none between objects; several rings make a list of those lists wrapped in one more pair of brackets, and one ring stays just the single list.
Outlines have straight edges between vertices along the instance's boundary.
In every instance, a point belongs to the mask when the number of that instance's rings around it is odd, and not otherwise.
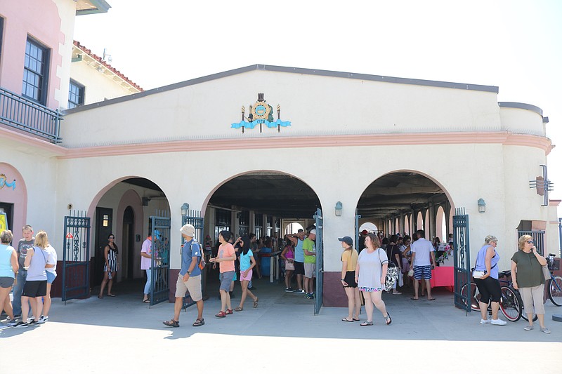
[{"label": "group of four people standing together at the left edge", "polygon": [[[25,225],[18,248],[13,248],[13,234],[0,234],[0,311],[8,315],[8,326],[26,328],[48,321],[51,309],[51,285],[55,280],[57,253],[48,242],[47,233]],[[13,304],[9,293],[13,290]]]}]

